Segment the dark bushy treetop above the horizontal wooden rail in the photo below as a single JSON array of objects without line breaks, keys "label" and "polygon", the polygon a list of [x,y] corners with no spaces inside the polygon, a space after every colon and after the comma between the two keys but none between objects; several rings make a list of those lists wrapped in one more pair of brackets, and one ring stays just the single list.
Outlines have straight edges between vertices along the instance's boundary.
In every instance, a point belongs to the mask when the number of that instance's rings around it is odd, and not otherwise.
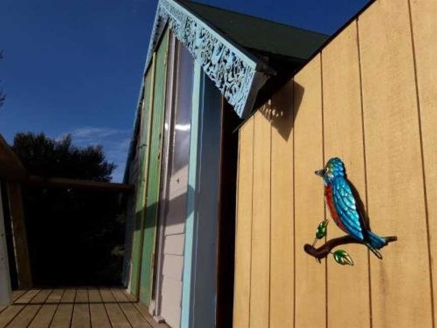
[{"label": "dark bushy treetop above the horizontal wooden rail", "polygon": [[31,175],[110,181],[116,168],[101,146],[78,148],[71,135],[55,140],[43,133],[17,133],[12,148]]}]

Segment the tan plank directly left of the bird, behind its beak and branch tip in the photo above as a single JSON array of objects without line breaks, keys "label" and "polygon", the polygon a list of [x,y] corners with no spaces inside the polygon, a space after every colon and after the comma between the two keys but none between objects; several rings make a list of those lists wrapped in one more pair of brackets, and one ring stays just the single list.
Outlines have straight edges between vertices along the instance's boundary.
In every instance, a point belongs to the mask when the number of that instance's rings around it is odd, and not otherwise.
[{"label": "tan plank directly left of the bird, behind its beak and branch tip", "polygon": [[323,185],[315,170],[323,167],[320,55],[294,77],[294,229],[295,326],[326,325],[326,265],[303,252],[324,218]]}]

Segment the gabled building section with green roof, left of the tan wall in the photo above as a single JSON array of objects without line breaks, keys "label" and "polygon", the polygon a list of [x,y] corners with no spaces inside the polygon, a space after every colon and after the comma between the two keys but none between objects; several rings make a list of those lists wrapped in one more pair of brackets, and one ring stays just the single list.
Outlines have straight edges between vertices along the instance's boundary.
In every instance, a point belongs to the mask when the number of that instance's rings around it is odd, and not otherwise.
[{"label": "gabled building section with green roof, left of the tan wall", "polygon": [[124,181],[124,283],[156,320],[232,326],[238,127],[327,37],[158,3]]}]

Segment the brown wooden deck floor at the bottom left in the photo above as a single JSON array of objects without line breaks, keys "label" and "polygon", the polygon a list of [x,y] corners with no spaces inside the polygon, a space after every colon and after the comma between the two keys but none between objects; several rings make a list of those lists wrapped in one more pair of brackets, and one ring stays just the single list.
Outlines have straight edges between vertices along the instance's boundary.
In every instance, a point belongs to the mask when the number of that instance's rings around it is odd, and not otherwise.
[{"label": "brown wooden deck floor at the bottom left", "polygon": [[122,289],[33,289],[0,306],[0,328],[169,328]]}]

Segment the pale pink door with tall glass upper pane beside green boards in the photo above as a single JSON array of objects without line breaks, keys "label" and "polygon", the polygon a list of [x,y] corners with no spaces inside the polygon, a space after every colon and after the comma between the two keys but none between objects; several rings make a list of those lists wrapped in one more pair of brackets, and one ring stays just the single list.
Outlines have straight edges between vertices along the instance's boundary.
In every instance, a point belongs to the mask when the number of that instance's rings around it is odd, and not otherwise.
[{"label": "pale pink door with tall glass upper pane beside green boards", "polygon": [[181,321],[194,62],[187,49],[173,36],[171,39],[174,60],[168,74],[172,80],[167,81],[153,314],[177,328]]}]

